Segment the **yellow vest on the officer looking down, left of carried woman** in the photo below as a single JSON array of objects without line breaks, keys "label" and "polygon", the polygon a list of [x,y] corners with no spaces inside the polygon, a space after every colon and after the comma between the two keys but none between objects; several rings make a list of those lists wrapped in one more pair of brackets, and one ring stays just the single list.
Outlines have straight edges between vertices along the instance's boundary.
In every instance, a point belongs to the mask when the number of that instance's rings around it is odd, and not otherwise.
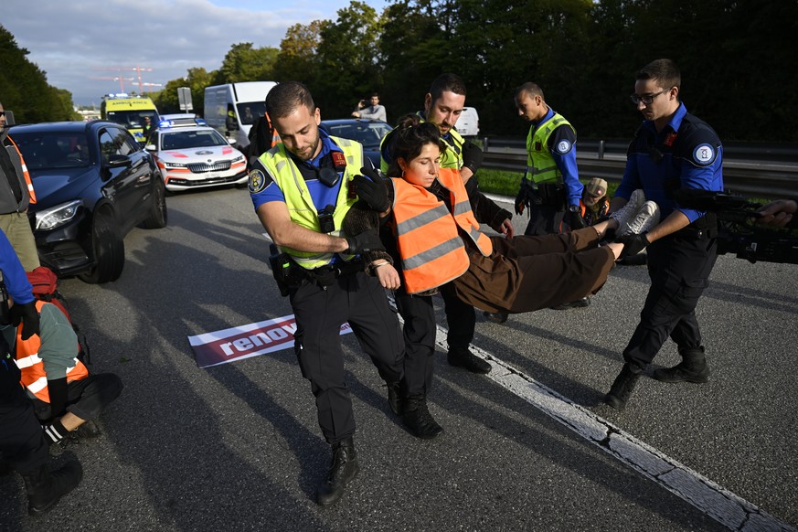
[{"label": "yellow vest on the officer looking down, left of carried woman", "polygon": [[[334,237],[344,237],[340,228],[344,223],[344,217],[346,217],[349,208],[357,201],[357,197],[349,197],[348,195],[349,184],[352,177],[360,173],[360,167],[363,165],[363,146],[359,143],[333,136],[330,139],[343,150],[346,157],[346,170],[344,170],[344,176],[341,178],[341,186],[336,197],[335,212],[333,212],[333,221],[337,229],[329,234]],[[282,196],[285,197],[285,207],[288,208],[291,220],[305,229],[320,233],[321,225],[319,224],[318,208],[314,206],[313,198],[307,188],[307,184],[304,182],[303,176],[299,172],[299,168],[296,167],[291,157],[285,152],[285,144],[277,144],[271,150],[262,154],[261,163],[269,171],[277,186],[280,187]],[[325,266],[332,262],[335,257],[335,253],[299,251],[285,246],[279,246],[279,248],[291,255],[297,264],[307,270]],[[345,261],[351,261],[355,258],[354,255],[344,255],[343,253],[338,253],[338,256]]]}]

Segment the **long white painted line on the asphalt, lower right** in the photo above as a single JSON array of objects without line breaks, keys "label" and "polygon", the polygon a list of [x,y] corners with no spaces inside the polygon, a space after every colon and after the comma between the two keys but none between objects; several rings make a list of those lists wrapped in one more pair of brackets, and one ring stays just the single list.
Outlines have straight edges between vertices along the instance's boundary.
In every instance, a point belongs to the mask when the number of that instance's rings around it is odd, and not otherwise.
[{"label": "long white painted line on the asphalt, lower right", "polygon": [[[436,344],[445,352],[446,329],[438,325]],[[782,530],[795,528],[761,510],[742,497],[715,484],[707,477],[676,462],[632,434],[622,431],[608,420],[596,415],[551,388],[537,382],[490,353],[471,346],[474,355],[484,358],[492,369],[485,377],[503,386],[516,396],[554,420],[576,432],[585,440],[609,452],[622,463],[686,500],[721,525],[741,532]]]}]

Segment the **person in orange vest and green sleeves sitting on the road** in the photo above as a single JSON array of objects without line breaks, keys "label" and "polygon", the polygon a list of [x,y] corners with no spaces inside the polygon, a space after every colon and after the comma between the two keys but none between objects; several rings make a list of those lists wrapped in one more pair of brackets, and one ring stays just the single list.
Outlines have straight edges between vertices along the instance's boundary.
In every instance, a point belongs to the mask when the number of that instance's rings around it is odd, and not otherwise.
[{"label": "person in orange vest and green sleeves sitting on the road", "polygon": [[63,447],[68,440],[98,436],[93,420],[119,397],[122,380],[112,373],[90,373],[78,359],[78,335],[59,307],[37,301],[36,308],[38,335],[23,340],[21,325],[8,325],[2,332],[46,439]]}]

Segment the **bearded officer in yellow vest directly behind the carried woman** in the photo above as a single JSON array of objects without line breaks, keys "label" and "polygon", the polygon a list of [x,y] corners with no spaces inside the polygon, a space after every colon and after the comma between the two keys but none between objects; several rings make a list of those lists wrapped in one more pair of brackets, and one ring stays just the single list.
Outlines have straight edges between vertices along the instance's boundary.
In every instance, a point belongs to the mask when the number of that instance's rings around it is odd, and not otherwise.
[{"label": "bearded officer in yellow vest directly behind the carried woman", "polygon": [[[430,91],[424,97],[424,111],[418,112],[421,122],[432,122],[438,126],[441,138],[446,144],[446,151],[442,153],[440,165],[442,168],[454,168],[460,171],[466,189],[473,194],[478,188],[476,179],[471,177],[482,165],[483,154],[478,146],[463,139],[454,129],[454,122],[460,117],[465,106],[465,83],[456,74],[442,74],[432,81]],[[383,139],[380,148],[380,167],[383,172],[388,171],[392,162],[391,148],[395,142],[394,130]],[[493,201],[484,197],[483,204],[486,211],[480,222],[492,228],[501,228],[501,232],[512,237],[513,225],[510,218],[513,215],[505,209],[495,205]],[[476,314],[473,307],[463,303],[452,291],[451,287],[441,290],[445,303],[446,322],[449,332],[446,340],[449,344],[447,360],[456,367],[464,367],[473,373],[488,373],[491,365],[482,358],[474,356],[468,346],[473,340],[473,331],[476,325]],[[505,318],[506,319],[506,318]],[[407,327],[407,325],[405,325]],[[407,337],[406,337],[407,342]]]}]

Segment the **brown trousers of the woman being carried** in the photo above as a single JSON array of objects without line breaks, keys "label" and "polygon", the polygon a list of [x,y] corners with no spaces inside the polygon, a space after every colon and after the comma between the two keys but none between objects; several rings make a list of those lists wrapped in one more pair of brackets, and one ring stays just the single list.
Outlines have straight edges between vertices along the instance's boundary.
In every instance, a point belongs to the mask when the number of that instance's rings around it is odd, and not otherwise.
[{"label": "brown trousers of the woman being carried", "polygon": [[597,293],[615,265],[609,248],[596,247],[593,228],[491,240],[489,257],[469,250],[471,265],[452,286],[465,303],[492,313],[527,313]]}]

